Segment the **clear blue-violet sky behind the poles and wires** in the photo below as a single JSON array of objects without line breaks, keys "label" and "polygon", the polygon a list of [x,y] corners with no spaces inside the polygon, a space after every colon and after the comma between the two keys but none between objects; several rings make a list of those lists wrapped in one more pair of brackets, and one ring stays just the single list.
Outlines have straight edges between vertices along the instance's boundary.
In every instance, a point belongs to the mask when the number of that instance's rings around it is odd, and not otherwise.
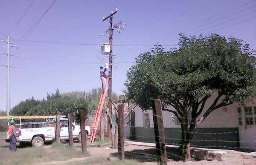
[{"label": "clear blue-violet sky behind the poles and wires", "polygon": [[[0,0],[0,32],[15,37],[12,43],[26,34],[53,0],[32,2]],[[126,72],[134,64],[134,58],[151,48],[144,45],[159,43],[165,48],[175,47],[179,33],[215,32],[242,39],[256,50],[256,0],[57,0],[23,40],[102,44],[108,38],[99,34],[109,26],[108,21],[102,22],[102,17],[116,7],[119,11],[114,15],[113,24],[123,21],[127,26],[121,33],[113,32],[113,44],[128,45],[113,46],[116,55],[113,91],[118,94],[125,89]],[[5,36],[0,34],[0,39]],[[18,56],[11,57],[11,65],[18,67],[11,68],[11,108],[32,96],[41,100],[56,88],[63,93],[101,87],[99,65],[108,59],[101,54],[101,61],[98,59],[99,46],[26,41],[18,44],[18,49],[10,50]],[[131,45],[143,46],[129,47]],[[0,42],[0,51],[6,52],[6,43]],[[0,65],[6,65],[4,54],[0,54]],[[6,110],[4,66],[0,67],[0,110]]]}]

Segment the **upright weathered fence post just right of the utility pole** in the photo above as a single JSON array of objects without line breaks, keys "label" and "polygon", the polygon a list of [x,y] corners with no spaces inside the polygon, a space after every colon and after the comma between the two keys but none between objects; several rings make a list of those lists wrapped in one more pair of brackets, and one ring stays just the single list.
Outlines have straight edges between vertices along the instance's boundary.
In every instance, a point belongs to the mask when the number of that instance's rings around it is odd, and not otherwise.
[{"label": "upright weathered fence post just right of the utility pole", "polygon": [[125,129],[124,129],[124,110],[125,105],[121,104],[118,106],[118,156],[119,159],[125,159]]}]

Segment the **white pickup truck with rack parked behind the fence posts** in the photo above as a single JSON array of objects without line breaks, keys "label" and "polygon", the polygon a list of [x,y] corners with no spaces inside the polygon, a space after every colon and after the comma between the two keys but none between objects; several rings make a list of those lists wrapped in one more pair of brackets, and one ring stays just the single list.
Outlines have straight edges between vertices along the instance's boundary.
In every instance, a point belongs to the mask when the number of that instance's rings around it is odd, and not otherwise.
[{"label": "white pickup truck with rack parked behind the fence posts", "polygon": [[[60,118],[61,121],[61,132],[60,137],[61,140],[68,140],[68,119]],[[31,125],[32,122],[29,122]],[[29,125],[26,123],[22,123],[20,128],[17,128],[17,142],[20,143],[32,143],[33,146],[42,146],[44,142],[53,142],[55,140],[54,133],[54,123],[52,119],[47,119],[46,122],[34,122],[34,125],[38,125],[38,128],[27,128]],[[40,127],[41,125],[42,127]],[[73,127],[73,139],[79,140],[81,142],[81,129],[80,125],[77,125],[75,122],[72,123]],[[85,131],[87,136],[90,135],[90,127],[85,126]],[[6,139],[6,142],[9,142],[9,139]]]}]

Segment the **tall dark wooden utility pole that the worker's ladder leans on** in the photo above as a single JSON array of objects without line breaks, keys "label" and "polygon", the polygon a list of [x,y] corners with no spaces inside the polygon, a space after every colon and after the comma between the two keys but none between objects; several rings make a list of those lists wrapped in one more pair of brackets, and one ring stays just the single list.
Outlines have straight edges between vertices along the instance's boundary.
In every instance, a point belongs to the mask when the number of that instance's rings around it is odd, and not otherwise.
[{"label": "tall dark wooden utility pole that the worker's ladder leans on", "polygon": [[[108,98],[111,98],[112,96],[112,60],[113,60],[113,24],[112,24],[112,20],[113,20],[113,15],[117,13],[117,8],[116,11],[113,12],[111,11],[111,14],[106,17],[106,18],[102,18],[103,21],[107,20],[109,18],[109,44],[110,44],[110,53],[109,53],[109,68],[108,68]],[[110,117],[112,116],[112,105],[111,105],[111,101],[108,101],[108,110],[109,110],[109,114]],[[110,128],[110,123],[108,124],[108,138],[111,137],[111,128]]]}]

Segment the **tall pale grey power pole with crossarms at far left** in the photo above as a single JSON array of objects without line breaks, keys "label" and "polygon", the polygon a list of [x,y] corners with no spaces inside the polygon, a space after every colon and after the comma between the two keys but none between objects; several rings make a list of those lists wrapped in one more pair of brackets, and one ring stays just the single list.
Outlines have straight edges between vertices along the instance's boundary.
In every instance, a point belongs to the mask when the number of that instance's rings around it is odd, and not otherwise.
[{"label": "tall pale grey power pole with crossarms at far left", "polygon": [[[6,36],[6,37],[7,37],[7,42],[3,41],[3,40],[1,40],[1,41],[7,43],[7,54],[3,53],[3,52],[0,52],[0,53],[7,55],[7,65],[3,65],[3,66],[6,66],[6,68],[7,68],[6,116],[9,116],[10,109],[11,109],[10,68],[12,67],[12,66],[10,66],[10,56],[14,56],[14,55],[10,54],[10,47],[14,47],[14,46],[18,46],[18,45],[10,43],[10,36]],[[12,44],[12,45],[10,46],[10,44]],[[12,67],[12,68],[16,68],[16,67]]]}]

